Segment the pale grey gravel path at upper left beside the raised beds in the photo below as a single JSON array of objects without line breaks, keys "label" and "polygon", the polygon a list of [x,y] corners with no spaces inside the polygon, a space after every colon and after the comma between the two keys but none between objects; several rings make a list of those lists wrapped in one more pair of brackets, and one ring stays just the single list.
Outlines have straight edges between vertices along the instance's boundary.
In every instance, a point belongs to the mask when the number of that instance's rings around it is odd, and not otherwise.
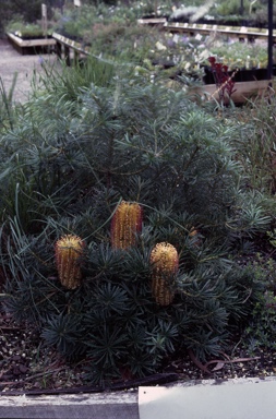
[{"label": "pale grey gravel path at upper left beside the raised beds", "polygon": [[56,56],[22,56],[8,40],[0,39],[0,77],[7,93],[10,92],[14,74],[17,74],[13,100],[21,103],[27,100],[34,71],[36,73],[43,71],[41,59],[53,62]]}]

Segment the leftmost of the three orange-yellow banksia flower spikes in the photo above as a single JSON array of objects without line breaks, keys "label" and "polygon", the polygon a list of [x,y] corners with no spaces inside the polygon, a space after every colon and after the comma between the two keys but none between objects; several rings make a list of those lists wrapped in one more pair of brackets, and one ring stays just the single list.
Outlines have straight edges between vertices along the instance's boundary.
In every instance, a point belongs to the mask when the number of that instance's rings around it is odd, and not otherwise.
[{"label": "leftmost of the three orange-yellow banksia flower spikes", "polygon": [[74,289],[81,285],[80,256],[83,254],[83,247],[82,239],[73,235],[63,236],[56,243],[59,279],[68,289]]}]

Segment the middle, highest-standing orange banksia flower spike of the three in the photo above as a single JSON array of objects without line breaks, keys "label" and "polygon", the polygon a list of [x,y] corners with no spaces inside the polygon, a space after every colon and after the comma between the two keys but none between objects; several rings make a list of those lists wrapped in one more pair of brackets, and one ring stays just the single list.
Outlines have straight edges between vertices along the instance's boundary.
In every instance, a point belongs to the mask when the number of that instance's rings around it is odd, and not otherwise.
[{"label": "middle, highest-standing orange banksia flower spike of the three", "polygon": [[111,222],[111,244],[128,249],[135,244],[135,234],[142,229],[142,208],[137,203],[122,201]]}]

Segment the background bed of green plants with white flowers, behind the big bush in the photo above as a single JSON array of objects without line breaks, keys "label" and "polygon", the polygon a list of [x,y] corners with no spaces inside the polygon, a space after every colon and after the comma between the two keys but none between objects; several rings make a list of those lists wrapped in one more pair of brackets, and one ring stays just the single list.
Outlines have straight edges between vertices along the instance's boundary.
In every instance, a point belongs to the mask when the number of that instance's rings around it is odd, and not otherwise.
[{"label": "background bed of green plants with white flowers, behind the big bush", "polygon": [[129,8],[86,4],[65,9],[57,31],[80,41],[83,47],[91,47],[91,52],[96,56],[132,61],[154,71],[158,65],[173,67],[172,75],[197,73],[200,79],[200,67],[207,64],[207,57],[212,55],[216,55],[229,70],[267,65],[267,49],[263,46],[226,43],[218,36],[213,41],[208,36],[191,40],[180,34],[145,27],[137,24],[137,17],[143,15],[140,8],[140,3],[132,3]]}]

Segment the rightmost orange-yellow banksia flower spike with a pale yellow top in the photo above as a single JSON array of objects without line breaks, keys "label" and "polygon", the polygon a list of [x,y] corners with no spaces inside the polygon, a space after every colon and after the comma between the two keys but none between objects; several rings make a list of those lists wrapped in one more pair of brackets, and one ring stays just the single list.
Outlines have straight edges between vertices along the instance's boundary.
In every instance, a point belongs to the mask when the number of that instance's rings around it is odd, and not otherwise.
[{"label": "rightmost orange-yellow banksia flower spike with a pale yellow top", "polygon": [[157,243],[151,253],[152,292],[160,306],[169,306],[175,297],[171,289],[177,273],[179,258],[177,249],[169,243]]}]

